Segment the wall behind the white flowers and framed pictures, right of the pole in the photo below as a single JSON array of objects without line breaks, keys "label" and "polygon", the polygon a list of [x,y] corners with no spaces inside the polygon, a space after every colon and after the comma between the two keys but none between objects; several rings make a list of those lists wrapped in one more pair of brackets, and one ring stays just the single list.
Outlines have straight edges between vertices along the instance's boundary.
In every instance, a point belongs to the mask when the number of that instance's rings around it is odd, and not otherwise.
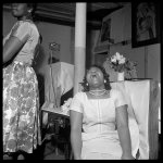
[{"label": "wall behind the white flowers and framed pictures, right of the pole", "polygon": [[[116,45],[111,45],[109,54],[112,55],[116,51],[124,54],[131,61],[136,61],[138,78],[153,78],[160,80],[160,43],[151,45],[147,47],[131,48],[131,42],[123,46],[118,43],[124,40],[131,40],[131,5],[126,5],[124,9],[115,11],[109,15],[112,20],[111,23],[111,38],[114,39]],[[96,35],[100,37],[99,30]],[[98,43],[98,37],[96,37],[95,47]],[[95,54],[95,62],[103,62],[108,55]]]}]

